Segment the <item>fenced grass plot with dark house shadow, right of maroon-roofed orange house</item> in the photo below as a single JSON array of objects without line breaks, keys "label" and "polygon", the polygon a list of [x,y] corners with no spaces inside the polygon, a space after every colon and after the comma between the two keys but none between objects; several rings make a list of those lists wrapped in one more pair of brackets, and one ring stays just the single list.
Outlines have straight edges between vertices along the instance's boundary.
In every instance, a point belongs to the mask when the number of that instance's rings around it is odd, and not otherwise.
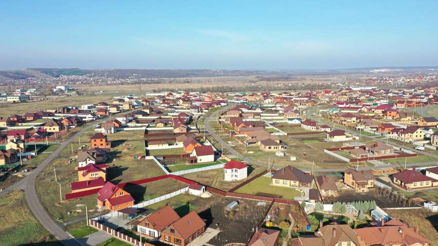
[{"label": "fenced grass plot with dark house shadow, right of maroon-roofed orange house", "polygon": [[141,185],[130,185],[124,189],[134,197],[135,203],[139,203],[164,194],[175,192],[188,186],[188,184],[177,181],[173,178],[166,178]]}]

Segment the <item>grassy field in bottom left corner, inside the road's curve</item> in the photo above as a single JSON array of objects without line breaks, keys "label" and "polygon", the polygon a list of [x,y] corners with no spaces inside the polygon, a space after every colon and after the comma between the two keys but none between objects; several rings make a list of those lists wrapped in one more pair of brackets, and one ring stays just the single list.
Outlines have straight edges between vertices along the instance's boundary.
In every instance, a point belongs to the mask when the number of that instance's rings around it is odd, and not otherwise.
[{"label": "grassy field in bottom left corner, inside the road's curve", "polygon": [[0,198],[0,217],[1,245],[62,245],[39,224],[27,206],[23,191],[13,191]]}]

